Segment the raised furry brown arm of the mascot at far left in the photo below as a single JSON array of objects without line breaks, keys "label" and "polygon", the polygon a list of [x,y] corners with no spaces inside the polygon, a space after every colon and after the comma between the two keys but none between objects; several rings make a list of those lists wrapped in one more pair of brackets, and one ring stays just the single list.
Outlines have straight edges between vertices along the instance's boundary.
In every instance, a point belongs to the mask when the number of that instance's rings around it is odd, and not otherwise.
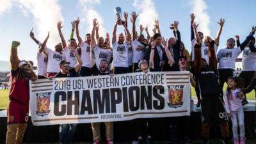
[{"label": "raised furry brown arm of the mascot at far left", "polygon": [[12,41],[12,48],[11,48],[11,54],[10,54],[10,62],[11,62],[11,69],[17,70],[19,68],[19,58],[18,58],[18,51],[17,47],[20,45],[17,41]]}]

